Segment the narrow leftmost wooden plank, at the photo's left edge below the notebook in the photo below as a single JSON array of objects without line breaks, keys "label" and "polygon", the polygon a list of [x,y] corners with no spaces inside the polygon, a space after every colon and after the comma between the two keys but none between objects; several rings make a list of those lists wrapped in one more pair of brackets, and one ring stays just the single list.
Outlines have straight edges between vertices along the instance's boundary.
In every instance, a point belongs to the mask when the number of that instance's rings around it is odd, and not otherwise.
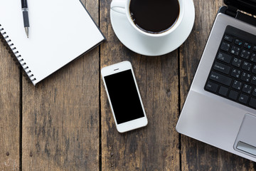
[{"label": "narrow leftmost wooden plank, at the photo's left edge below the notebook", "polygon": [[2,42],[0,42],[0,58],[0,170],[18,170],[20,167],[20,71]]}]

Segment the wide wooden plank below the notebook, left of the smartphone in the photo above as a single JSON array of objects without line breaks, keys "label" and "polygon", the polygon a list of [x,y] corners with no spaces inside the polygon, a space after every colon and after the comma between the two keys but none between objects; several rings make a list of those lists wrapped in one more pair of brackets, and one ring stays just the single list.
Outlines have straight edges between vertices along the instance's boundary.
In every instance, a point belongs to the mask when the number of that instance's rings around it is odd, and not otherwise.
[{"label": "wide wooden plank below the notebook, left of the smartphone", "polygon": [[[82,3],[98,23],[98,1]],[[99,170],[99,74],[97,47],[36,87],[23,79],[23,170]]]}]

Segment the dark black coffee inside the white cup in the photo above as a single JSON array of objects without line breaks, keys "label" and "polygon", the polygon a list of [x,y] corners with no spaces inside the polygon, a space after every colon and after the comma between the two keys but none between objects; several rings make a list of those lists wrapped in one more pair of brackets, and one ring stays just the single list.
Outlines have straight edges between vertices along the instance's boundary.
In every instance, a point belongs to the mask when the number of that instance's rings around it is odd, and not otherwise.
[{"label": "dark black coffee inside the white cup", "polygon": [[130,15],[134,24],[147,33],[168,31],[178,19],[178,0],[131,0]]}]

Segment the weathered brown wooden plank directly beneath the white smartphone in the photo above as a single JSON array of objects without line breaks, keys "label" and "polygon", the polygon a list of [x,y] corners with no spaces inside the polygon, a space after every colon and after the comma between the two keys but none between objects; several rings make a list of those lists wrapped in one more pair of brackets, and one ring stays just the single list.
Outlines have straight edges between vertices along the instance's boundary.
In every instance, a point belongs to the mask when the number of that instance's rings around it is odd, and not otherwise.
[{"label": "weathered brown wooden plank directly beneath the white smartphone", "polygon": [[146,57],[124,47],[110,24],[110,3],[100,1],[100,28],[107,36],[100,48],[100,66],[131,61],[149,124],[118,133],[101,81],[102,170],[179,170],[178,51]]}]

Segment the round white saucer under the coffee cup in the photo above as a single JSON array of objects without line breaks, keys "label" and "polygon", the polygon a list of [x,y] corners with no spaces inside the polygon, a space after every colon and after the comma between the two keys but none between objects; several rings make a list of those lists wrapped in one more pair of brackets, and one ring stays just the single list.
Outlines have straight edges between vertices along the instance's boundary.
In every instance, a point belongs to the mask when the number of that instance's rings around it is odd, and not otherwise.
[{"label": "round white saucer under the coffee cup", "polygon": [[175,31],[163,37],[146,37],[130,24],[126,15],[110,9],[110,19],[117,38],[130,50],[144,56],[161,56],[181,46],[186,41],[195,21],[193,0],[184,0],[185,13],[181,24]]}]

